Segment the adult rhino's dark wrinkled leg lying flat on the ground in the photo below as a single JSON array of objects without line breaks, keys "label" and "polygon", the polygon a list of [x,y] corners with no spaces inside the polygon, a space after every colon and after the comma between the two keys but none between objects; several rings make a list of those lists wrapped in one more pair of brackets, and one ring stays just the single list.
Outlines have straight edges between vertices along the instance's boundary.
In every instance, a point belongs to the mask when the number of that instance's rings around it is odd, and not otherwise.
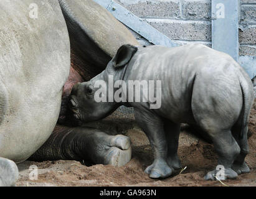
[{"label": "adult rhino's dark wrinkled leg lying flat on the ground", "polygon": [[95,164],[125,165],[131,159],[130,139],[87,127],[56,126],[47,142],[29,160],[91,160]]}]

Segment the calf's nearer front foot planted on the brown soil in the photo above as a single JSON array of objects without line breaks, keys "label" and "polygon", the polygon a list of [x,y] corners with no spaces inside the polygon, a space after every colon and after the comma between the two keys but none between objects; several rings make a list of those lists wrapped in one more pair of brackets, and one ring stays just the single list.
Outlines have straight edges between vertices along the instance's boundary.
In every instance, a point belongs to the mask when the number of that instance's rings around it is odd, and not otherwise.
[{"label": "calf's nearer front foot planted on the brown soil", "polygon": [[145,169],[150,178],[166,178],[173,174],[173,169],[163,159],[154,160],[153,164]]}]

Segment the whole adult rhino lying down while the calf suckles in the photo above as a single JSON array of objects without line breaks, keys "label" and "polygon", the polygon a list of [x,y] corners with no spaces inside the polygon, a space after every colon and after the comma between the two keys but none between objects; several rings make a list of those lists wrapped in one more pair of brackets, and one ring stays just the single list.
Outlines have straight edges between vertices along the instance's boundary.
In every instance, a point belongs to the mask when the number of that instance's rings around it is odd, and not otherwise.
[{"label": "whole adult rhino lying down while the calf suckles", "polygon": [[91,0],[1,0],[0,19],[0,186],[14,185],[14,162],[29,157],[126,164],[128,137],[56,123],[67,121],[75,83],[104,70],[121,45],[138,45],[130,31]]}]

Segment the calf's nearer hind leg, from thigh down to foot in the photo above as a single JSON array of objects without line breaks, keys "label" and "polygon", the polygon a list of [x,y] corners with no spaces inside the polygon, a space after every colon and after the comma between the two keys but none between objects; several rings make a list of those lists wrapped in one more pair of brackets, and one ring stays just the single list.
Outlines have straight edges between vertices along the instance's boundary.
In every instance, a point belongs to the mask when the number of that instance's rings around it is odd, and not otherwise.
[{"label": "calf's nearer hind leg, from thigh down to foot", "polygon": [[219,158],[218,165],[224,166],[222,172],[217,168],[208,172],[206,180],[215,180],[217,174],[223,174],[221,180],[236,178],[237,173],[231,167],[240,154],[239,144],[230,130],[242,109],[240,83],[225,75],[216,76],[209,72],[197,76],[191,100],[196,124],[209,135]]}]

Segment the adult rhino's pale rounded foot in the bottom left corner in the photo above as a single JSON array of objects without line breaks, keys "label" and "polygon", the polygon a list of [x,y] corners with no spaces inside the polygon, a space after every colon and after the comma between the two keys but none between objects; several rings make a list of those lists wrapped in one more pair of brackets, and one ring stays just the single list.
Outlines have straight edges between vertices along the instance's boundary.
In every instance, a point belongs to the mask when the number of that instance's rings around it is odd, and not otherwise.
[{"label": "adult rhino's pale rounded foot in the bottom left corner", "polygon": [[15,186],[18,178],[17,165],[12,160],[0,157],[0,187]]}]

